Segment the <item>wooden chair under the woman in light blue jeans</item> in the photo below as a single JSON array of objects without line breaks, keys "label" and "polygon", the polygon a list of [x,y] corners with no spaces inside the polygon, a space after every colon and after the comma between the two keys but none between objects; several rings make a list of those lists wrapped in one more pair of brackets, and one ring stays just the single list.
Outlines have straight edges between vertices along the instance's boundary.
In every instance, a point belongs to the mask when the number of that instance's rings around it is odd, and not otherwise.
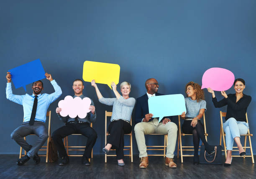
[{"label": "wooden chair under the woman in light blue jeans", "polygon": [[[220,145],[222,144],[222,139],[223,139],[225,158],[227,158],[227,148],[226,148],[226,142],[225,142],[225,137],[224,137],[224,136],[226,136],[226,134],[224,133],[224,130],[223,130],[223,120],[222,120],[222,118],[226,117],[226,114],[227,113],[220,111]],[[246,113],[246,123],[248,123],[247,113]],[[247,134],[241,134],[240,136],[245,136],[243,149],[246,152],[246,148],[250,148],[251,155],[245,155],[245,156],[232,155],[232,157],[243,157],[243,159],[245,159],[246,157],[251,157],[251,162],[254,164],[253,151],[252,151],[252,146],[251,146],[251,136],[253,136],[253,134],[251,134],[250,130],[248,129]],[[249,147],[246,146],[247,136],[249,138],[249,145],[250,145]],[[238,148],[238,147],[233,147],[233,148]],[[238,149],[232,150],[232,151],[238,151]]]}]

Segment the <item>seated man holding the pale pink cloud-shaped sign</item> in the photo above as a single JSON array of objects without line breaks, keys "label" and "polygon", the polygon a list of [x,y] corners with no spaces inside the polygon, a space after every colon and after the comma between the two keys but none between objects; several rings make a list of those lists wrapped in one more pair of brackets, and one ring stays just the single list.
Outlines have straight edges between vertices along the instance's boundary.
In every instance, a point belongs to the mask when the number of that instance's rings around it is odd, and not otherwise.
[{"label": "seated man holding the pale pink cloud-shaped sign", "polygon": [[[84,84],[81,79],[75,79],[73,82],[73,90],[75,97],[81,97],[82,99],[86,96],[83,95]],[[92,100],[91,100],[92,101]],[[89,159],[91,158],[92,147],[94,146],[97,133],[93,128],[90,127],[90,123],[93,123],[96,120],[95,106],[93,101],[91,102],[90,108],[91,111],[87,113],[85,118],[70,118],[68,115],[66,117],[62,117],[59,112],[61,112],[61,108],[56,108],[56,113],[59,115],[60,119],[66,123],[61,128],[54,131],[52,134],[52,138],[54,143],[58,149],[60,162],[59,165],[66,165],[69,163],[69,157],[67,156],[67,152],[65,150],[62,138],[69,136],[71,134],[82,134],[86,136],[87,143],[86,148],[84,149],[84,155],[82,157],[82,164],[90,165]]]}]

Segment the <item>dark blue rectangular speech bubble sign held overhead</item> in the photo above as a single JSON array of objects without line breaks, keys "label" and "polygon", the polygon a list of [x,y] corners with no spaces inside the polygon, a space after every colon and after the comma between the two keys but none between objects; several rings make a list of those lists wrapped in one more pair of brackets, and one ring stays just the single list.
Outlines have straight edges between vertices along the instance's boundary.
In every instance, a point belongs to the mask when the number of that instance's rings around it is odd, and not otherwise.
[{"label": "dark blue rectangular speech bubble sign held overhead", "polygon": [[8,70],[12,75],[12,81],[15,88],[23,87],[26,91],[26,85],[44,79],[45,72],[40,59],[28,62],[21,66]]}]

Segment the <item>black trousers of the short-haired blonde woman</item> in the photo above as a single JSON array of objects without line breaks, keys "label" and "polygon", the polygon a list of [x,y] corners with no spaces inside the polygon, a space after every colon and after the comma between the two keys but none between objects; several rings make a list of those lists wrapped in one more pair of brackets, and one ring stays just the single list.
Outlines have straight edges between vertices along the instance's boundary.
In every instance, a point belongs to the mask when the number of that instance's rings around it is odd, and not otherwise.
[{"label": "black trousers of the short-haired blonde woman", "polygon": [[130,123],[124,120],[114,120],[108,126],[108,136],[107,143],[112,144],[113,149],[116,150],[117,159],[123,159],[123,146],[124,146],[124,134],[131,133],[132,126]]}]

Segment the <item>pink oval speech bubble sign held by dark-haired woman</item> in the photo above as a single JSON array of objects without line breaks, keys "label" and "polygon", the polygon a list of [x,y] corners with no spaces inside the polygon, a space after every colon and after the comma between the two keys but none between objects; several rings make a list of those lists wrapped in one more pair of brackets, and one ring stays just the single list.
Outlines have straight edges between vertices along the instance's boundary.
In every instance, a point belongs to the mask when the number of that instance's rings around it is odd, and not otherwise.
[{"label": "pink oval speech bubble sign held by dark-haired woman", "polygon": [[224,68],[207,69],[202,77],[202,88],[211,88],[214,91],[225,91],[232,87],[235,76]]}]

